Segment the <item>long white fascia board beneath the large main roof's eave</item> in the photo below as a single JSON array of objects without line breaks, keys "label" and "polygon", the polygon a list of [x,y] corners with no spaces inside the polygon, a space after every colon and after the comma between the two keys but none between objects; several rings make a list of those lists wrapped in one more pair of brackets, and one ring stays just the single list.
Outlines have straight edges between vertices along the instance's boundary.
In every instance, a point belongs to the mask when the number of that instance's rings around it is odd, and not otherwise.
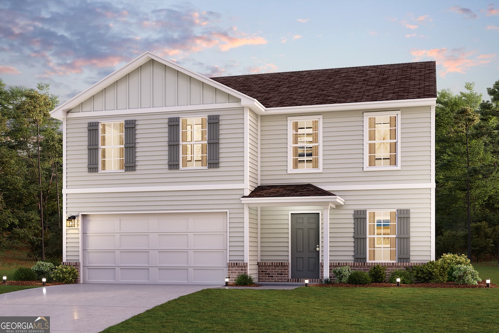
[{"label": "long white fascia board beneath the large main roof's eave", "polygon": [[436,103],[437,103],[437,98],[418,98],[418,99],[402,99],[402,100],[359,102],[359,103],[270,107],[266,108],[265,114],[393,109],[393,108],[402,108],[402,107],[432,106],[436,105]]}]

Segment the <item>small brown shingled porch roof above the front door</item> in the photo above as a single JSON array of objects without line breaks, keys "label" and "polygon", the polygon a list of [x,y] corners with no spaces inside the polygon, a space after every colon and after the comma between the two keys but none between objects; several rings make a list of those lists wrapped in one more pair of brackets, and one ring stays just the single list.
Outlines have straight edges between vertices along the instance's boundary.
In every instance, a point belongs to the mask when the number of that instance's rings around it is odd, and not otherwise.
[{"label": "small brown shingled porch roof above the front door", "polygon": [[243,198],[324,197],[335,195],[312,184],[260,185]]}]

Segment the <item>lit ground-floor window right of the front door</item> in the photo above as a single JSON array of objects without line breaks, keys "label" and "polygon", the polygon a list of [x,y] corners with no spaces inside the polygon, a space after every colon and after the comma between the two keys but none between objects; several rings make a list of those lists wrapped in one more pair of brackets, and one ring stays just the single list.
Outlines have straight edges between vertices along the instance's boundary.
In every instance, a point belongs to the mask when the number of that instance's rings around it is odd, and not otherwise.
[{"label": "lit ground-floor window right of the front door", "polygon": [[397,212],[367,212],[367,261],[396,261]]}]

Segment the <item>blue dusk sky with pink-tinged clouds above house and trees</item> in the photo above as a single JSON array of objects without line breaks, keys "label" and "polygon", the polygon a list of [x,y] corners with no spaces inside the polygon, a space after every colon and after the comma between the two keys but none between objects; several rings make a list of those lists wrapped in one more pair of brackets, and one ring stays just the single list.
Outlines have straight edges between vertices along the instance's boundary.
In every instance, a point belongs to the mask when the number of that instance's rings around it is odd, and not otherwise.
[{"label": "blue dusk sky with pink-tinged clouds above house and trees", "polygon": [[489,100],[498,0],[1,0],[0,78],[65,102],[145,51],[228,76],[436,61]]}]

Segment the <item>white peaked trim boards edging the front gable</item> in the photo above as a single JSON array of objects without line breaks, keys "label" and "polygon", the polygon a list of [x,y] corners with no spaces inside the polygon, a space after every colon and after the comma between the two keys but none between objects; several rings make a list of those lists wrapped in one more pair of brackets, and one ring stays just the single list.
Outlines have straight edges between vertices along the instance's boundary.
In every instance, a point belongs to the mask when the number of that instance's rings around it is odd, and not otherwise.
[{"label": "white peaked trim boards edging the front gable", "polygon": [[176,64],[172,61],[166,60],[166,59],[152,53],[151,51],[146,51],[146,52],[142,53],[141,55],[139,55],[138,57],[136,57],[135,59],[133,59],[132,61],[130,61],[125,66],[121,67],[120,69],[112,72],[111,74],[109,74],[108,76],[103,78],[102,80],[98,81],[97,83],[92,85],[87,90],[79,93],[78,95],[74,96],[70,100],[57,106],[55,109],[50,111],[50,116],[53,118],[62,120],[62,118],[66,116],[67,111],[69,111],[73,107],[77,106],[81,102],[87,100],[91,96],[95,95],[97,92],[101,91],[102,89],[108,87],[111,83],[120,79],[124,75],[134,71],[135,69],[142,66],[143,64],[145,64],[146,62],[148,62],[151,59],[156,60],[156,61],[164,64],[165,66],[168,66],[168,67],[171,67],[175,70],[178,70],[186,75],[192,76],[192,77],[200,80],[201,82],[204,82],[204,83],[209,84],[211,86],[215,86],[217,89],[220,89],[224,92],[235,95],[236,97],[240,98],[242,101],[244,100],[245,103],[248,104],[248,106],[250,104],[254,105],[253,108],[257,108],[258,105],[261,106],[261,104],[258,101],[256,101],[254,98],[251,98],[250,96],[247,96],[247,95],[245,95],[245,94],[243,94],[235,89],[232,89],[232,88],[230,88],[230,87],[228,87],[220,82],[212,80],[211,78],[208,78],[204,75],[195,73],[187,68],[179,66],[178,64]]}]

